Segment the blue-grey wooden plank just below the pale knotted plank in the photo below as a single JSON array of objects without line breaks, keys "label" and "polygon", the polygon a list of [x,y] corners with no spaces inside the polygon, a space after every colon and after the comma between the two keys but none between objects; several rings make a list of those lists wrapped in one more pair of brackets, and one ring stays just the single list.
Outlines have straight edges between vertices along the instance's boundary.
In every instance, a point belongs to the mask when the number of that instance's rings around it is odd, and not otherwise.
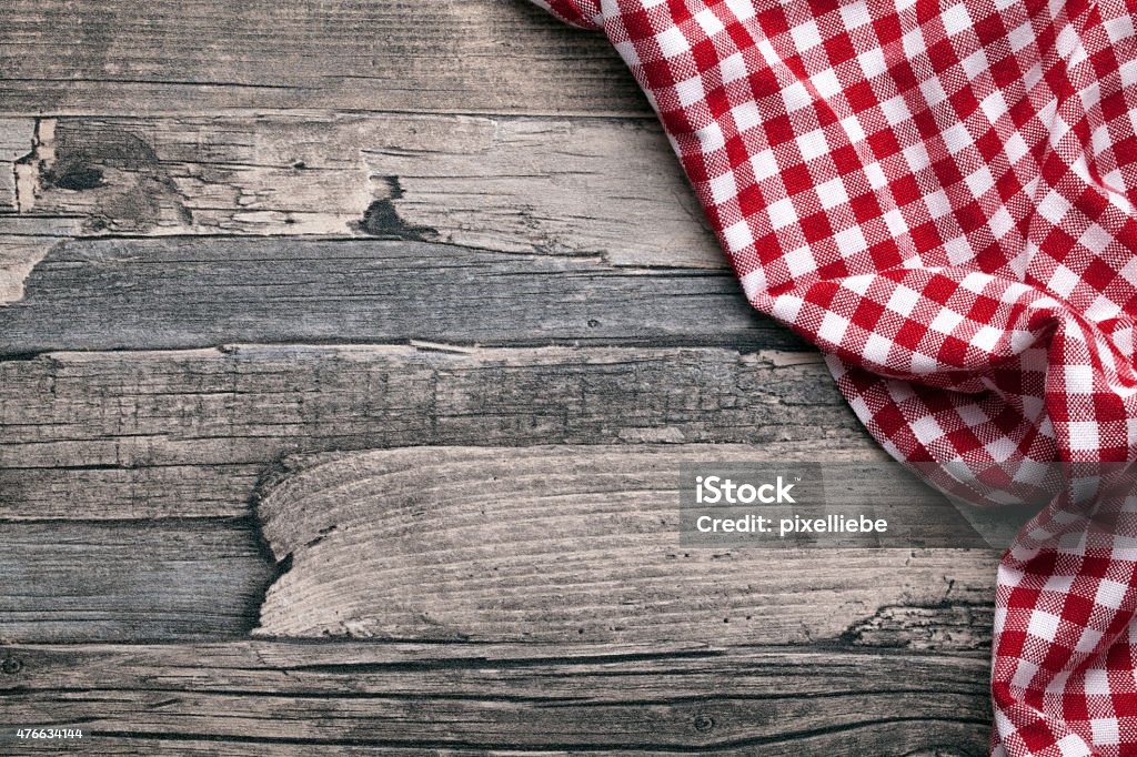
[{"label": "blue-grey wooden plank just below the pale knotted plank", "polygon": [[0,355],[229,342],[800,349],[729,272],[414,241],[83,240],[0,307]]}]

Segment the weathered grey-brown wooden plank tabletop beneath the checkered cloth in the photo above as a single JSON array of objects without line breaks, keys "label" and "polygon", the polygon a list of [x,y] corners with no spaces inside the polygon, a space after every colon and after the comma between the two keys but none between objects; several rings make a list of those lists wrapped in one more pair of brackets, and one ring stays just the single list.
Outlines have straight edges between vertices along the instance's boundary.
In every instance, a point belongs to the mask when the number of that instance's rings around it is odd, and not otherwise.
[{"label": "weathered grey-brown wooden plank tabletop beneath the checkered cloth", "polygon": [[0,751],[985,751],[994,551],[677,547],[699,446],[882,456],[601,39],[0,16]]}]

